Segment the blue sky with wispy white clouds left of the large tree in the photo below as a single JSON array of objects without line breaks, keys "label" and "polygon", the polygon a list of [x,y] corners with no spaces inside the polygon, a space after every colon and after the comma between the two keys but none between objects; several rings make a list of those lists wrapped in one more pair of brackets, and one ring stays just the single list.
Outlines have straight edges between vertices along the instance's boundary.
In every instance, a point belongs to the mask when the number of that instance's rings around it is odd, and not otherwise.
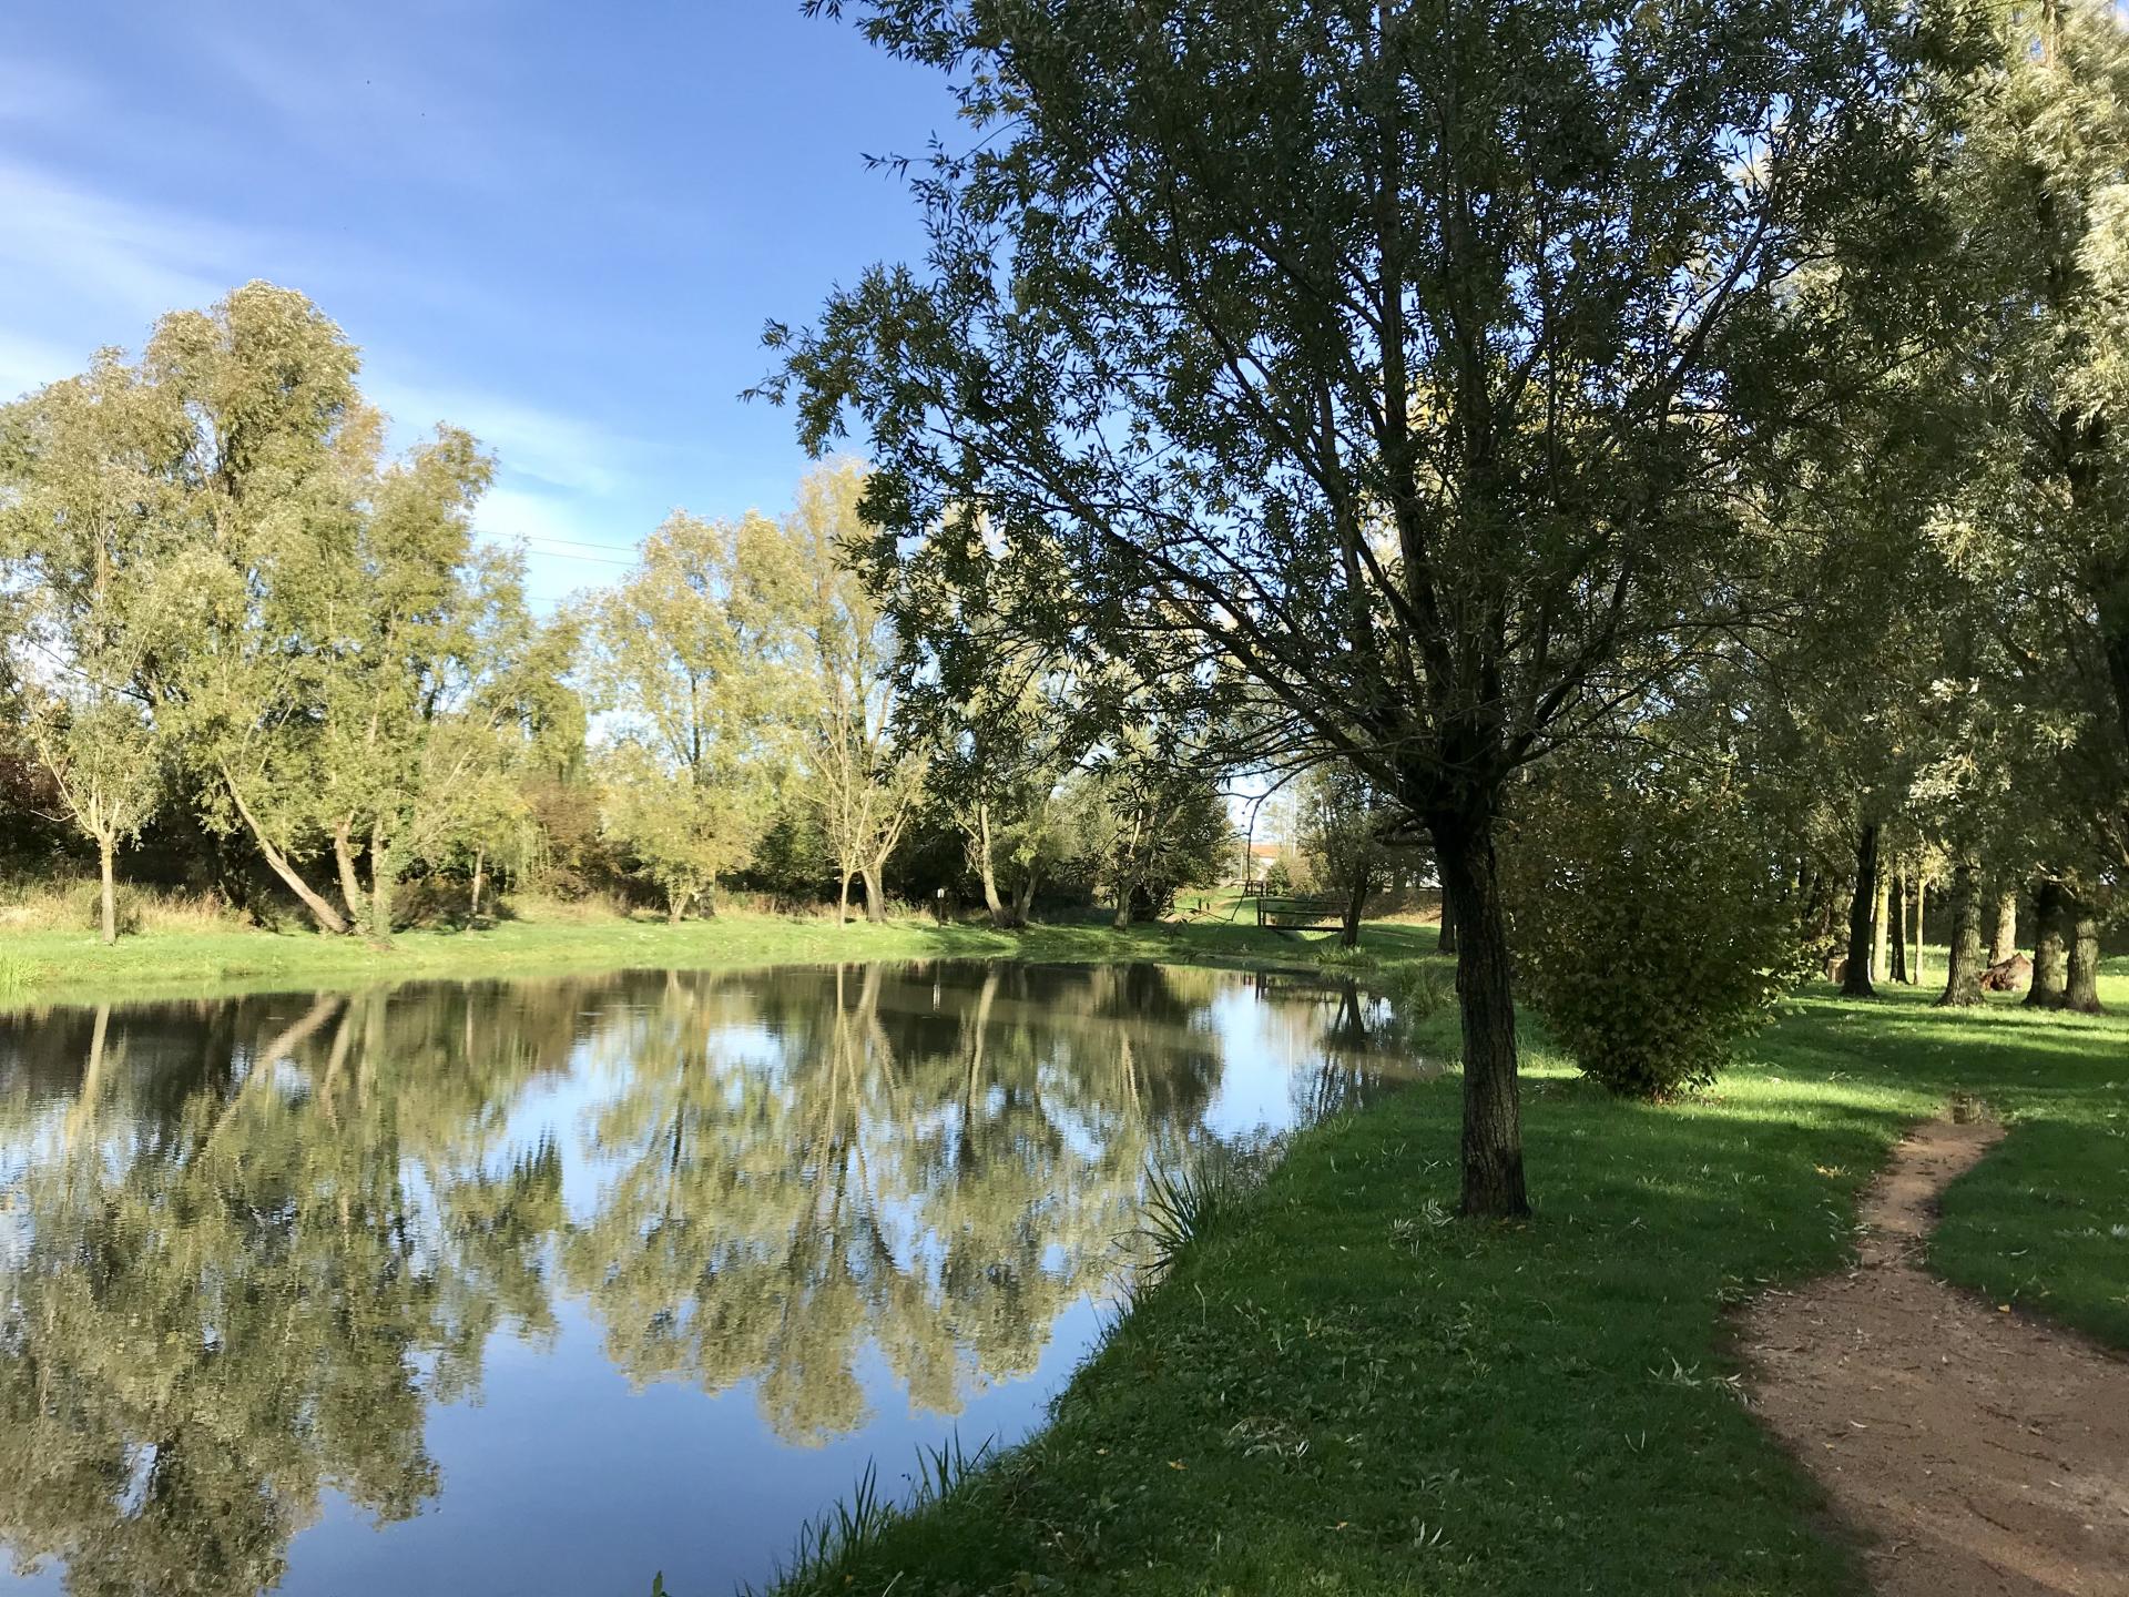
[{"label": "blue sky with wispy white clouds left of the large tree", "polygon": [[496,451],[481,528],[545,605],[620,575],[573,545],[790,500],[790,415],[739,400],[760,326],[920,251],[864,155],[952,130],[798,0],[6,0],[0,396],[298,287],[402,439]]}]

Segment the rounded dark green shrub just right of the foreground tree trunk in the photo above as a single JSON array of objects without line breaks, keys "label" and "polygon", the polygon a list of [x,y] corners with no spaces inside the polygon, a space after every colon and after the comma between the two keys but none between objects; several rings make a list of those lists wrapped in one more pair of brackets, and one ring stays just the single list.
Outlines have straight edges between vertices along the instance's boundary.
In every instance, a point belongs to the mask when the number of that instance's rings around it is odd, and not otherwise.
[{"label": "rounded dark green shrub just right of the foreground tree trunk", "polygon": [[1614,1092],[1712,1082],[1810,967],[1739,794],[1565,773],[1518,809],[1501,875],[1524,997]]}]

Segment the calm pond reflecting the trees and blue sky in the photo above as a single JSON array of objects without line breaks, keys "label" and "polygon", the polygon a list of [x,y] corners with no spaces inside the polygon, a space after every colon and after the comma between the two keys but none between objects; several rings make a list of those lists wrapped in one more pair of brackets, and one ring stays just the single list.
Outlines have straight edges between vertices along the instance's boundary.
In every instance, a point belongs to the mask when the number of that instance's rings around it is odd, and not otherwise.
[{"label": "calm pond reflecting the trees and blue sky", "polygon": [[0,1591],[760,1582],[867,1461],[1035,1427],[1148,1169],[1384,1024],[947,962],[0,1018]]}]

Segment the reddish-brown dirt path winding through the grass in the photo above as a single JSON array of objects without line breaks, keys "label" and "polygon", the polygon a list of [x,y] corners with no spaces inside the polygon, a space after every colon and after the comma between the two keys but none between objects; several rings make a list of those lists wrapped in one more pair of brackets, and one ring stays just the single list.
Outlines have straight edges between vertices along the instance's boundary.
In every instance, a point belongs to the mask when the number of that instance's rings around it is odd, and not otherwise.
[{"label": "reddish-brown dirt path winding through the grass", "polygon": [[1899,1146],[1859,1265],[1746,1312],[1752,1401],[1874,1537],[1886,1597],[2129,1595],[2129,1361],[1920,1269],[1937,1195],[2001,1135]]}]

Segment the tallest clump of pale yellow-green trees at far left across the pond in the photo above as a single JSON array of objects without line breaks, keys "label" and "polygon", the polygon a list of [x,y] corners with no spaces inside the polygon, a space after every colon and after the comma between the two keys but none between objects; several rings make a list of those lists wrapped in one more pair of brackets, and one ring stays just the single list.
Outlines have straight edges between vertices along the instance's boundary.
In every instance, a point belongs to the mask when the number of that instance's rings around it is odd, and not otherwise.
[{"label": "tallest clump of pale yellow-green trees at far left across the pond", "polygon": [[[566,660],[515,556],[475,547],[494,462],[449,426],[385,460],[358,371],[302,294],[247,283],[6,407],[0,675],[100,852],[170,773],[321,926],[383,935],[405,871],[507,852]],[[302,875],[328,852],[339,907]]]}]

